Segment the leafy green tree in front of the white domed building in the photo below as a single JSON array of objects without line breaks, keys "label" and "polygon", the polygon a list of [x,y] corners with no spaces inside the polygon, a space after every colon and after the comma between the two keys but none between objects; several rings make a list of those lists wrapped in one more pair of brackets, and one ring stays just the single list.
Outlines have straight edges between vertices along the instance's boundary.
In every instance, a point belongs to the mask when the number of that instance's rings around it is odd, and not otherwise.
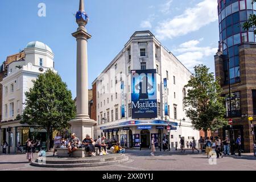
[{"label": "leafy green tree in front of the white domed building", "polygon": [[34,86],[25,93],[25,109],[20,123],[39,125],[46,129],[49,150],[53,129],[60,131],[67,128],[68,121],[75,118],[75,102],[67,84],[51,70],[39,75],[32,82]]}]

